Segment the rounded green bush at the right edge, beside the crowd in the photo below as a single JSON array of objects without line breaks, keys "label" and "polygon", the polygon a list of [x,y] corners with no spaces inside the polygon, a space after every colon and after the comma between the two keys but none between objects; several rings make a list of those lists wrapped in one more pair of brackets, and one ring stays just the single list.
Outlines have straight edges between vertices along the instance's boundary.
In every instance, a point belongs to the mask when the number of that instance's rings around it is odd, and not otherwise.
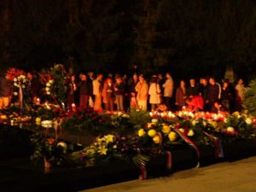
[{"label": "rounded green bush at the right edge, beside the crowd", "polygon": [[249,113],[256,116],[256,79],[252,80],[247,87],[245,105]]}]

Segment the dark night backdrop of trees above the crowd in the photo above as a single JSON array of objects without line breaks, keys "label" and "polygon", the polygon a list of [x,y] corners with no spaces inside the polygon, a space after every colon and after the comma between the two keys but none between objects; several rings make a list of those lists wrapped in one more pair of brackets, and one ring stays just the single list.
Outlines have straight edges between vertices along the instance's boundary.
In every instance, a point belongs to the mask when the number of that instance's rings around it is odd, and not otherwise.
[{"label": "dark night backdrop of trees above the crowd", "polygon": [[255,0],[1,0],[0,65],[255,78]]}]

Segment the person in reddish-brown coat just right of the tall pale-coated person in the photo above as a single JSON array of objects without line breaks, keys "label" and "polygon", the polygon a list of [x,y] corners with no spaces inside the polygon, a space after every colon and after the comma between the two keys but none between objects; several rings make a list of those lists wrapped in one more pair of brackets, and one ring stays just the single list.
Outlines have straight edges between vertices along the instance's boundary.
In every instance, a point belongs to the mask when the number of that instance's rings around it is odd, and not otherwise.
[{"label": "person in reddish-brown coat just right of the tall pale-coated person", "polygon": [[182,110],[183,106],[186,105],[186,83],[185,81],[180,81],[180,86],[176,90],[176,102],[177,110]]}]

